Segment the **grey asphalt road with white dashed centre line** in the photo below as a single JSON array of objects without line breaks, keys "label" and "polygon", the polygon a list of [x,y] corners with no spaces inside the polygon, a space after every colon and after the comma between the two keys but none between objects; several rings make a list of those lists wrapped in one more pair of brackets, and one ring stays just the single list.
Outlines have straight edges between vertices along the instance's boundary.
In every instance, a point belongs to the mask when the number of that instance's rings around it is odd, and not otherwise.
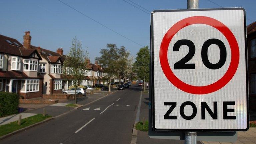
[{"label": "grey asphalt road with white dashed centre line", "polygon": [[117,91],[90,105],[7,137],[0,143],[130,144],[140,92],[139,86]]}]

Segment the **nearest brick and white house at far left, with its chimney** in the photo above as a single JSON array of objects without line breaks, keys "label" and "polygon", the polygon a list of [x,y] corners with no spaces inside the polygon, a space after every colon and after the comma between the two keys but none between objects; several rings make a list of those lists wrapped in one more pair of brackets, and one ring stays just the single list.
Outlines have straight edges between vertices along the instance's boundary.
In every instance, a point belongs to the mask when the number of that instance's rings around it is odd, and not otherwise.
[{"label": "nearest brick and white house at far left, with its chimney", "polygon": [[28,49],[29,32],[25,44],[0,35],[0,91],[18,93],[25,99],[41,97],[43,77],[38,73],[41,56],[36,49]]}]

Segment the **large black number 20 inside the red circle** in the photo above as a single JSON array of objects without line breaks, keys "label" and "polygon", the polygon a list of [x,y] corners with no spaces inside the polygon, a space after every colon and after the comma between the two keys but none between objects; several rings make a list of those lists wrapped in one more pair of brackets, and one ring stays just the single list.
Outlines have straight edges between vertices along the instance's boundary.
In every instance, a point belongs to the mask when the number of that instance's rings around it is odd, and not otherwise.
[{"label": "large black number 20 inside the red circle", "polygon": [[[211,63],[208,59],[208,48],[212,44],[216,44],[220,49],[220,60],[216,64]],[[174,64],[174,69],[195,69],[195,64],[186,64],[195,55],[196,48],[194,43],[186,39],[178,40],[173,46],[173,51],[179,51],[182,45],[187,45],[189,47],[189,52],[184,58],[182,58],[181,60],[179,60]],[[204,65],[207,68],[219,69],[225,64],[227,59],[226,47],[224,43],[219,39],[209,39],[205,41],[202,46],[201,57]]]}]

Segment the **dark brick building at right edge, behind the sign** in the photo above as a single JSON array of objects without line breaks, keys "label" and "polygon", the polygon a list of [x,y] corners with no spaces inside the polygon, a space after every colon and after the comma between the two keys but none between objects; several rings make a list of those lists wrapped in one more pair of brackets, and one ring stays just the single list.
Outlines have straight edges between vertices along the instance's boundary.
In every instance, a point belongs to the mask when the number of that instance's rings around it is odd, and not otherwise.
[{"label": "dark brick building at right edge, behind the sign", "polygon": [[256,22],[247,26],[247,45],[250,110],[256,110]]}]

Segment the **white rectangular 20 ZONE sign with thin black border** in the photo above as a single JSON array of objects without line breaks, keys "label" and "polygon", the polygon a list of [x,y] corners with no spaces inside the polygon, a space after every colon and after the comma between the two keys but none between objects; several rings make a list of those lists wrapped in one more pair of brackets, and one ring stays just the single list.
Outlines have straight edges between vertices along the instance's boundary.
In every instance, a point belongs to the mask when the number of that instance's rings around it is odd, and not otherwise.
[{"label": "white rectangular 20 ZONE sign with thin black border", "polygon": [[249,128],[245,10],[151,14],[155,130]]}]

